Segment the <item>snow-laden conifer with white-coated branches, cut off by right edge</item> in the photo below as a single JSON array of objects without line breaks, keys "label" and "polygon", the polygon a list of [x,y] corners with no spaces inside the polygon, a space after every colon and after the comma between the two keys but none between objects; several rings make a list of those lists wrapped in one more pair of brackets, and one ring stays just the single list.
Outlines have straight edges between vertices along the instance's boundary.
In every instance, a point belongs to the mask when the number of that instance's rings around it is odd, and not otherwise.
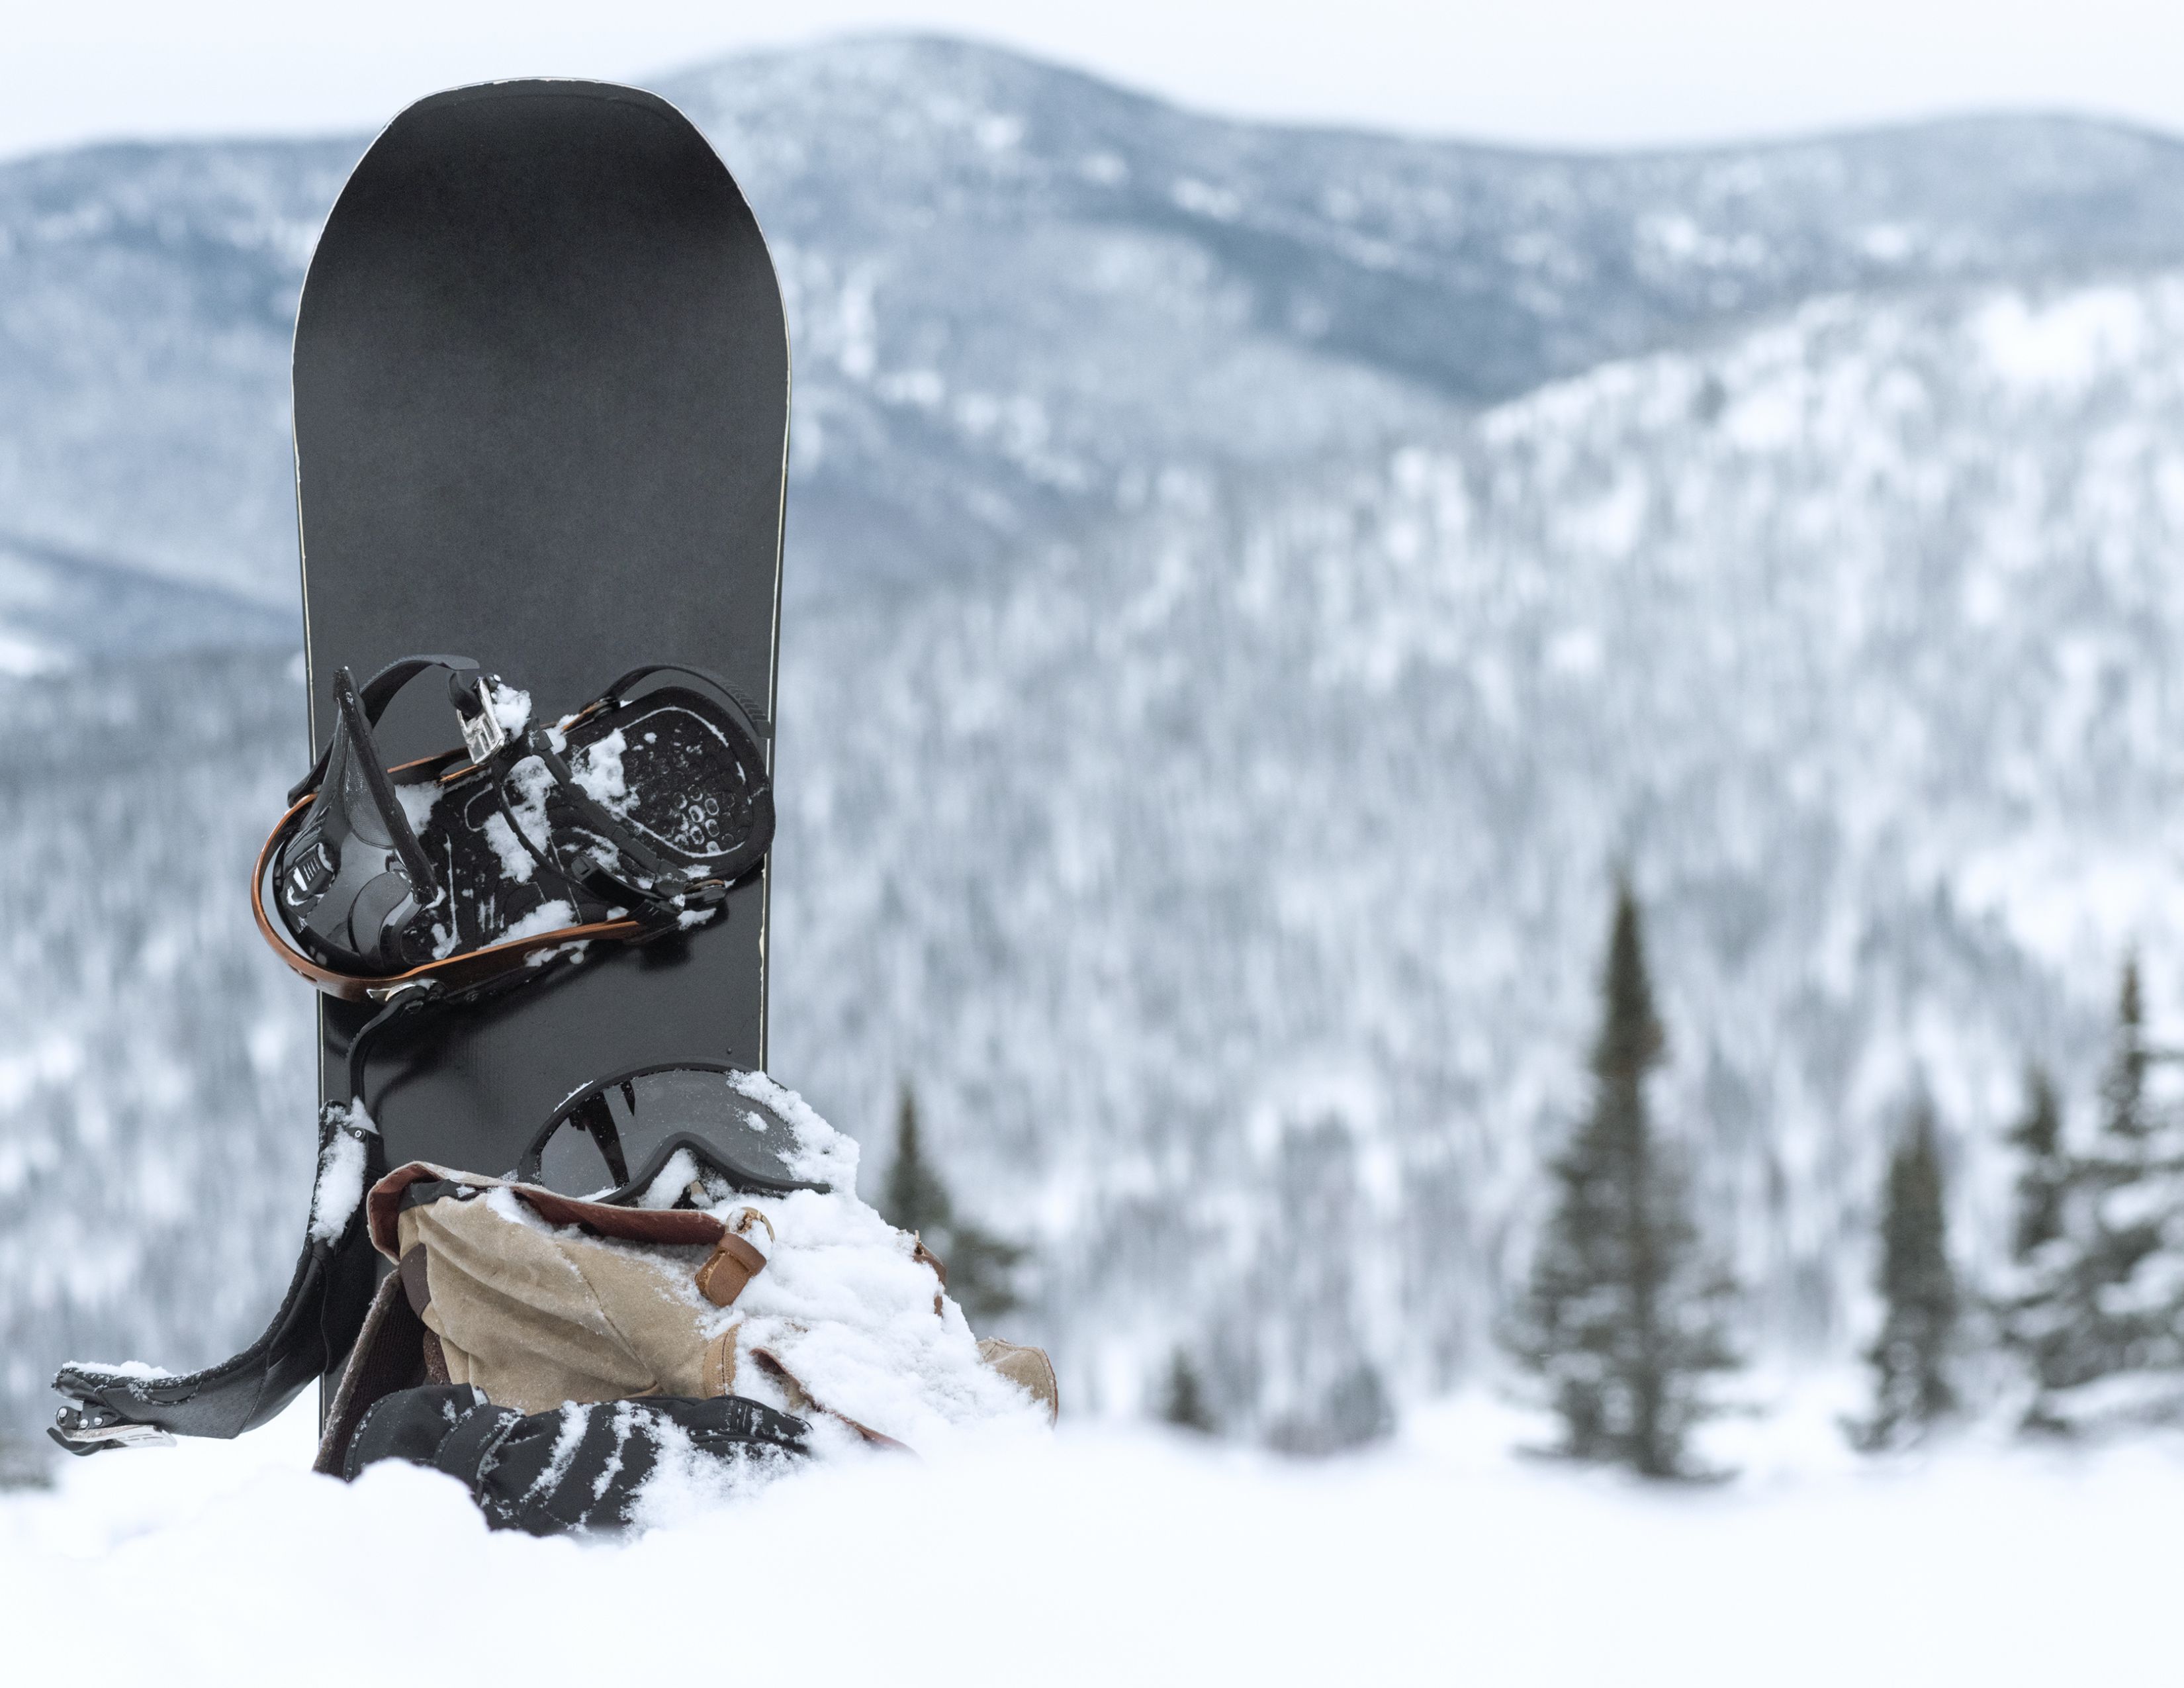
[{"label": "snow-laden conifer with white-coated branches, cut off by right edge", "polygon": [[2099,1136],[2066,1157],[2057,1234],[2029,1251],[2011,1306],[2033,1430],[2184,1415],[2184,1155],[2173,1112],[2147,1094],[2151,1063],[2132,961]]}]

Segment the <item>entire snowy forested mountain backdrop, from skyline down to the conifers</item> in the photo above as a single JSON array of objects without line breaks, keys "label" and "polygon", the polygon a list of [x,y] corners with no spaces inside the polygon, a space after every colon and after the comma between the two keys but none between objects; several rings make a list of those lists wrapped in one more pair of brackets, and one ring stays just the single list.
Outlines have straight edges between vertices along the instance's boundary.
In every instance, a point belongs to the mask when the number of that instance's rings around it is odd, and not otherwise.
[{"label": "entire snowy forested mountain backdrop, from skyline down to the conifers", "polygon": [[[867,1138],[917,1083],[1077,1400],[1186,1343],[1295,1433],[1481,1360],[1618,867],[1752,1339],[1859,1334],[1915,1083],[1992,1260],[2020,1063],[2081,1092],[2123,948],[2184,965],[2184,151],[1546,157],[933,41],[662,90],[797,347],[775,1070]],[[301,712],[251,605],[356,146],[0,168],[24,1406],[61,1347],[247,1336],[301,1216],[308,1005],[240,895]],[[197,609],[124,640],[122,576]]]}]

